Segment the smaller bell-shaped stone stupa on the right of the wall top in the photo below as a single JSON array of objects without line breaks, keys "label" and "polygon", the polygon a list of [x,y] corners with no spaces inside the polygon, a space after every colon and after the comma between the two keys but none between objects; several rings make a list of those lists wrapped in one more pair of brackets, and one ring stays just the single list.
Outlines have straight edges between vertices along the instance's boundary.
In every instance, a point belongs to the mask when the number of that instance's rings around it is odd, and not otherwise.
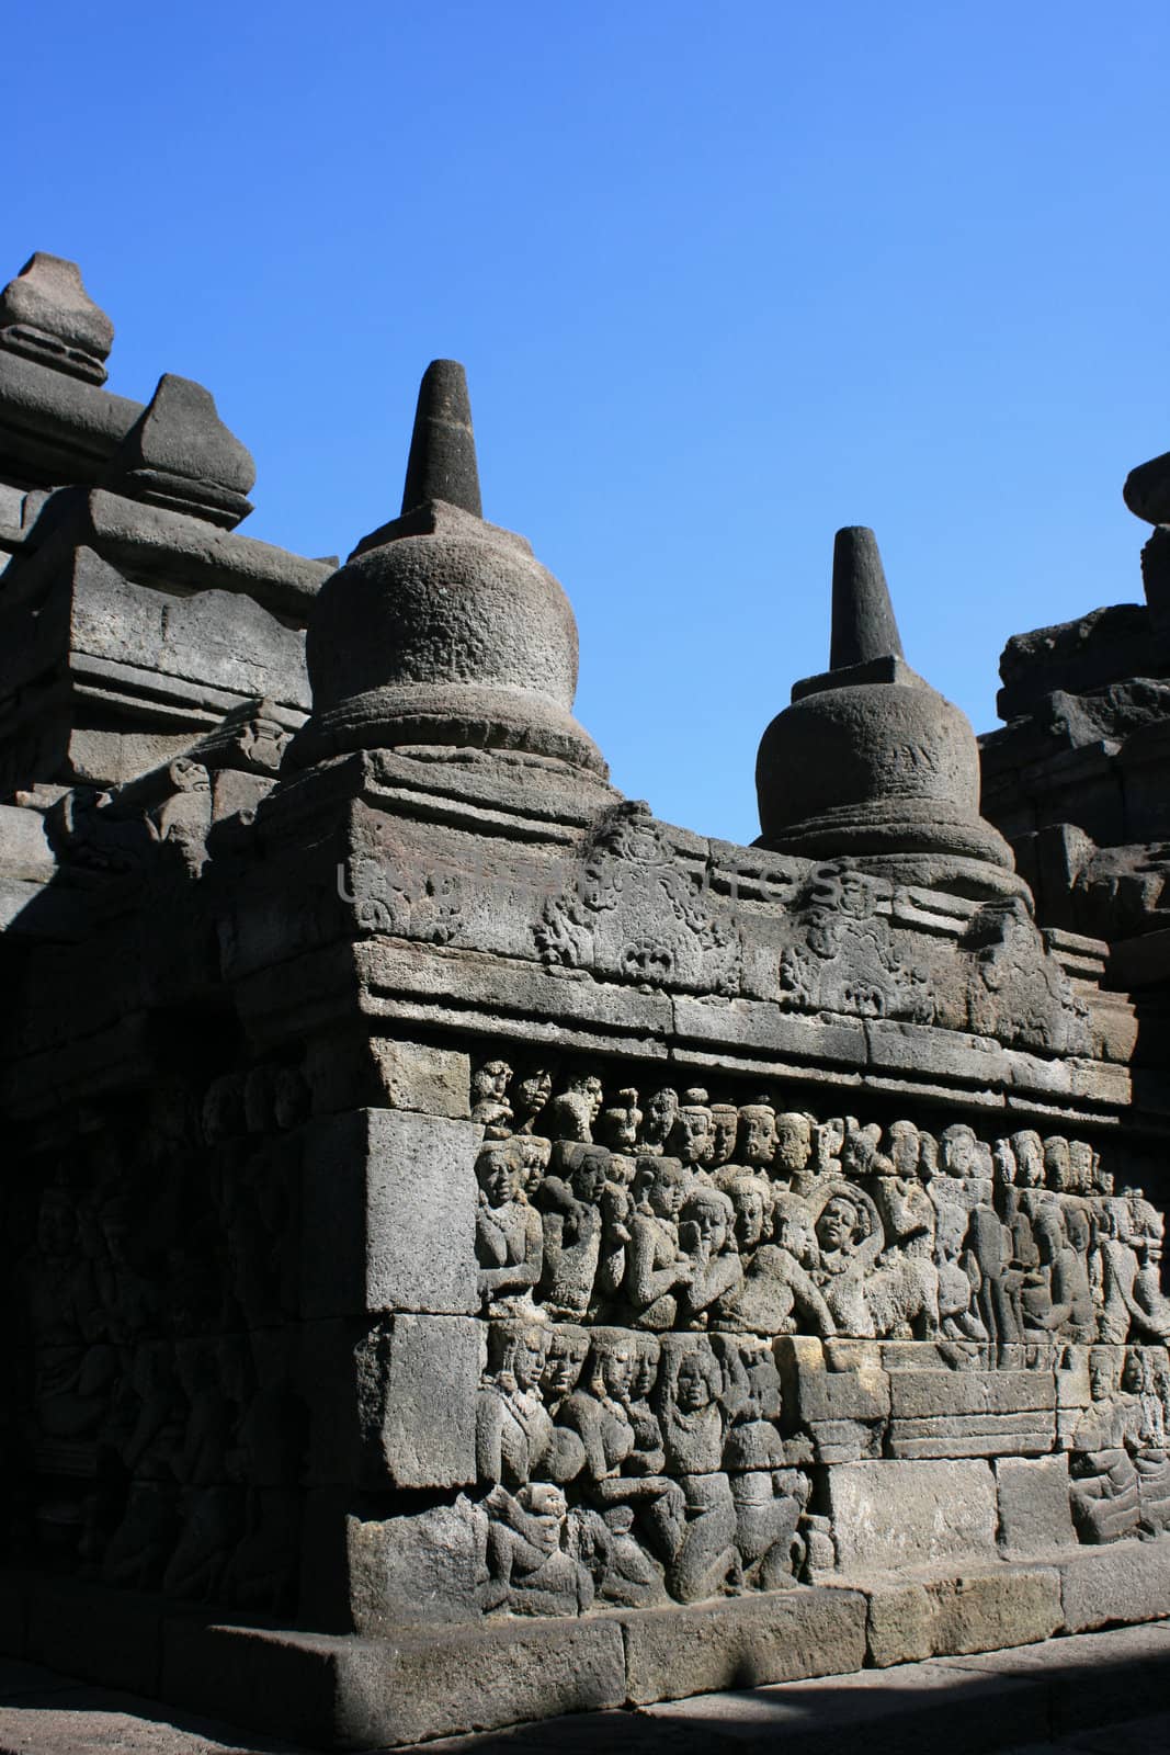
[{"label": "smaller bell-shaped stone stupa on the right of the wall top", "polygon": [[979,814],[965,713],[902,656],[872,530],[837,532],[830,670],[793,686],[756,758],[760,844],[986,899],[1024,892]]}]

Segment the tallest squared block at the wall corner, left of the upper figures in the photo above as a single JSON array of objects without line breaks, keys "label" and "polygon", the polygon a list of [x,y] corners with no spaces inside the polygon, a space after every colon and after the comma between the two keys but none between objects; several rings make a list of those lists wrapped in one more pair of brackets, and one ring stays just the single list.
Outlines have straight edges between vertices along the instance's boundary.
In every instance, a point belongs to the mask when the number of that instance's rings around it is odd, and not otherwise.
[{"label": "tallest squared block at the wall corner, left of the upper figures", "polygon": [[302,1311],[472,1314],[472,1121],[356,1109],[305,1135]]}]

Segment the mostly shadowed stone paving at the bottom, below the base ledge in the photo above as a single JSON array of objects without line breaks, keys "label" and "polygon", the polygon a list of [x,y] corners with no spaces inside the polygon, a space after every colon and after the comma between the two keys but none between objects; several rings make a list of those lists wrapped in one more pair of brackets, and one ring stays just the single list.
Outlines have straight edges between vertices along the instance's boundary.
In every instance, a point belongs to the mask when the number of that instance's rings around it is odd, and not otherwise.
[{"label": "mostly shadowed stone paving at the bottom, below the base ledge", "polygon": [[[581,1713],[396,1755],[858,1755],[860,1748],[865,1755],[1168,1755],[1168,1697],[1170,1622],[1159,1622]],[[0,1660],[0,1755],[305,1751],[39,1664]]]}]

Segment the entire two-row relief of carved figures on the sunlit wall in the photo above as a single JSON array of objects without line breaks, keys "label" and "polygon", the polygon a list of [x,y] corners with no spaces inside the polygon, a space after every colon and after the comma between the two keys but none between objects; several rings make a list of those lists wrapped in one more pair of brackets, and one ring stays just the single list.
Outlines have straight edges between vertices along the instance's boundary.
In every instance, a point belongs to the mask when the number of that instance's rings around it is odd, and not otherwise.
[{"label": "entire two-row relief of carved figures on the sunlit wall", "polygon": [[1170,1525],[1163,1218],[1088,1141],[503,1058],[472,1097],[484,1608],[686,1602],[831,1565],[782,1336],[928,1343],[944,1374],[1086,1367],[1063,1437],[1081,1539]]}]

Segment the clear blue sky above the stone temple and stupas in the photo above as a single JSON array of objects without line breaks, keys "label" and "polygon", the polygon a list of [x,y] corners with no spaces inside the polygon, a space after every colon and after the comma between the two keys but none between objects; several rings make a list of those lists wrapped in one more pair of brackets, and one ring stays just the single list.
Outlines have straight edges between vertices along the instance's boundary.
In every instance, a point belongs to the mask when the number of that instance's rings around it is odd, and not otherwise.
[{"label": "clear blue sky above the stone temple and stupas", "polygon": [[486,512],[667,820],[756,835],[838,525],[981,730],[1010,632],[1140,598],[1165,0],[9,0],[5,42],[0,267],[77,258],[111,388],[205,383],[244,528],[309,555],[396,511],[419,372],[461,358]]}]

